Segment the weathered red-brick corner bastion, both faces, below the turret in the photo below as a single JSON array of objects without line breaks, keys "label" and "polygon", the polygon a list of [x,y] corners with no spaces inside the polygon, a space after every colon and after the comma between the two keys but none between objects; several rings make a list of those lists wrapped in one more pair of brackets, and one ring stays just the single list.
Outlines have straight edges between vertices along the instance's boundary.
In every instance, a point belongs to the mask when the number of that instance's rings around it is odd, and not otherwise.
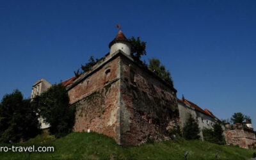
[{"label": "weathered red-brick corner bastion, both faces, below the turret", "polygon": [[162,140],[179,125],[176,90],[122,52],[77,81],[68,90],[70,103],[77,105],[74,131],[90,129],[118,144],[138,145]]}]

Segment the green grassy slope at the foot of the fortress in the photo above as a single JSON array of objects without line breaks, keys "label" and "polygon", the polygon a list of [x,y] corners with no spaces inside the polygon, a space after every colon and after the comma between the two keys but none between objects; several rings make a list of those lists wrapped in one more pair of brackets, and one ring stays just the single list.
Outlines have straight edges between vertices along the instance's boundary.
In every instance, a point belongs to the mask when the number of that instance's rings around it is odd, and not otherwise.
[{"label": "green grassy slope at the foot of the fortress", "polygon": [[[56,139],[47,133],[40,134],[24,143],[15,146],[54,146],[54,152],[0,152],[0,159],[250,159],[256,150],[239,147],[216,145],[198,140],[187,141],[177,138],[173,141],[145,143],[138,147],[123,147],[116,142],[95,132],[72,132],[63,138]],[[1,144],[0,146],[11,146]]]}]

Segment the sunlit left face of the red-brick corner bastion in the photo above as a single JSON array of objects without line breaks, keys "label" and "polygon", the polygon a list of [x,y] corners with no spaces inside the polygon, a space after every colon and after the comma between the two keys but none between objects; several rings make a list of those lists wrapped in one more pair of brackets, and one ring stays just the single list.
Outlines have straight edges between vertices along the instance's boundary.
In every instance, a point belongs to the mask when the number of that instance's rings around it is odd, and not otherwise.
[{"label": "sunlit left face of the red-brick corner bastion", "polygon": [[70,103],[77,105],[74,131],[90,129],[120,140],[119,64],[120,58],[116,57],[68,91]]}]

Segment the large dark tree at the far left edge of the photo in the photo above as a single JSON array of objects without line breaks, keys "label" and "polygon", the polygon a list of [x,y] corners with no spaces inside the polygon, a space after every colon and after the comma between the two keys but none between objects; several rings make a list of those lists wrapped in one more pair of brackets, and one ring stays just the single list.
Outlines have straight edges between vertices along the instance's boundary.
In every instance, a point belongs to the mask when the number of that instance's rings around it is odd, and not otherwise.
[{"label": "large dark tree at the far left edge of the photo", "polygon": [[0,104],[0,141],[24,141],[40,133],[36,111],[19,90],[4,95]]}]

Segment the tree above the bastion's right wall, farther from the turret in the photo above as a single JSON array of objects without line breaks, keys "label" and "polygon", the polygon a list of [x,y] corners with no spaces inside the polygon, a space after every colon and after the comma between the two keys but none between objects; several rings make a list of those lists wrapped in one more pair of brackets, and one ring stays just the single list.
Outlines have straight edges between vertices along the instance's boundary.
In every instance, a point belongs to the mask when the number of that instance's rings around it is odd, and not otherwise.
[{"label": "tree above the bastion's right wall, farther from the turret", "polygon": [[161,77],[162,79],[164,79],[164,81],[167,81],[173,86],[171,74],[169,70],[165,70],[164,65],[160,64],[160,60],[158,60],[157,58],[152,58],[152,59],[148,59],[148,61],[149,61],[148,69],[156,73],[157,76]]}]

